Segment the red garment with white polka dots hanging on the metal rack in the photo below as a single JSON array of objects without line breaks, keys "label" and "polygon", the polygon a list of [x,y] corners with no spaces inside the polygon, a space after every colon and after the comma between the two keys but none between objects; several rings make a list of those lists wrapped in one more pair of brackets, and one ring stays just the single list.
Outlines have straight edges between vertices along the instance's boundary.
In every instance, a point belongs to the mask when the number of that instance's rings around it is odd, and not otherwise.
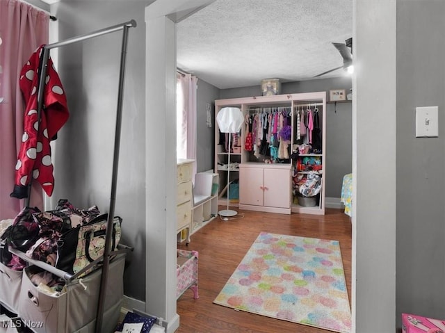
[{"label": "red garment with white polka dots hanging on the metal rack", "polygon": [[[37,115],[38,66],[43,46],[40,46],[22,68],[19,86],[25,102],[24,133],[15,165],[15,185],[11,197],[28,197],[31,177],[38,181],[47,195],[54,190],[53,164],[49,142],[68,120],[67,99],[51,58],[43,93],[40,124]],[[38,128],[38,132],[36,129]]]}]

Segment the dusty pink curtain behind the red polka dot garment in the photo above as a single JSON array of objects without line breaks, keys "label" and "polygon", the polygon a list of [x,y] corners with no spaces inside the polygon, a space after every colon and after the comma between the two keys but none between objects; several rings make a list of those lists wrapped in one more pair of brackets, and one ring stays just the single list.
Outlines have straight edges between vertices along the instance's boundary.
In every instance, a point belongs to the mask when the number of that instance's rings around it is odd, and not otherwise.
[{"label": "dusty pink curtain behind the red polka dot garment", "polygon": [[[49,39],[49,15],[17,0],[0,1],[0,220],[14,218],[24,200],[10,197],[22,142],[24,101],[19,73],[33,51]],[[31,206],[42,209],[42,190],[34,184]]]}]

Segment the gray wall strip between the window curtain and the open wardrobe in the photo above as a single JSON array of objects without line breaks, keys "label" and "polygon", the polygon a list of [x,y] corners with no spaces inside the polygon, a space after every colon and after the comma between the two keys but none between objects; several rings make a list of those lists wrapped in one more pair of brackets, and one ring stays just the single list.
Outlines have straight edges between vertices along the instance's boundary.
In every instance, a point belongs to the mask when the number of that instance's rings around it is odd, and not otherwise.
[{"label": "gray wall strip between the window curtain and the open wardrobe", "polygon": [[[215,86],[198,79],[197,81],[197,172],[213,169],[215,152],[215,99],[220,90]],[[207,104],[210,105],[211,127],[207,127]]]}]

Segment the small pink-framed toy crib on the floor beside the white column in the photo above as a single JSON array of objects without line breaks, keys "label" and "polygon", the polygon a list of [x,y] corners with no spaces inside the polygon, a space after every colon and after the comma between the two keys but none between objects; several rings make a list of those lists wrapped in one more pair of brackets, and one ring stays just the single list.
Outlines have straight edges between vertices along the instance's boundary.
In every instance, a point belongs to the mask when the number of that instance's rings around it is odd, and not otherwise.
[{"label": "small pink-framed toy crib on the floor beside the white column", "polygon": [[199,298],[197,292],[197,257],[197,251],[177,250],[176,298],[179,298],[189,288],[193,291],[193,298]]}]

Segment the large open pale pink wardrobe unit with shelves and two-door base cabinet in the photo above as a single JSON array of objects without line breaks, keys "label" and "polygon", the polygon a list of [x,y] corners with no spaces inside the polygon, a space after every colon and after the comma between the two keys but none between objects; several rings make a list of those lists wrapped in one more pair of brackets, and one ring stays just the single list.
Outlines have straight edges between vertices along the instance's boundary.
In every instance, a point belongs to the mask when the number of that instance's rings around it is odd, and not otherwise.
[{"label": "large open pale pink wardrobe unit with shelves and two-door base cabinet", "polygon": [[[251,115],[254,112],[270,112],[273,110],[285,110],[290,119],[288,125],[291,126],[291,140],[286,147],[289,157],[293,150],[298,149],[298,145],[303,143],[298,140],[299,113],[307,110],[316,111],[318,122],[319,138],[321,140],[320,149],[316,153],[300,156],[299,165],[304,157],[316,159],[321,163],[317,166],[317,174],[321,177],[321,190],[316,197],[315,206],[305,205],[305,200],[298,201],[298,195],[294,188],[294,177],[299,174],[307,174],[312,170],[304,172],[297,170],[296,161],[291,159],[281,159],[280,163],[268,163],[270,156],[258,156],[245,149],[245,138],[248,129],[247,124],[241,127],[241,133],[238,133],[239,148],[234,149],[230,154],[230,172],[227,172],[228,154],[224,145],[220,145],[220,139],[224,133],[220,133],[218,123],[215,126],[215,173],[219,174],[220,179],[220,200],[219,204],[227,204],[227,194],[224,193],[229,174],[230,181],[239,179],[239,200],[229,200],[229,204],[239,206],[241,209],[250,209],[254,211],[270,211],[276,213],[325,213],[325,147],[326,147],[326,92],[305,92],[288,95],[243,97],[234,99],[218,99],[215,101],[215,116],[221,108],[226,106],[238,107],[243,115]],[[275,112],[275,111],[272,111]],[[315,113],[312,113],[313,115]],[[290,118],[289,118],[290,116]],[[241,142],[240,142],[241,140]],[[221,192],[222,191],[222,192]],[[300,202],[300,204],[298,204]]]}]

